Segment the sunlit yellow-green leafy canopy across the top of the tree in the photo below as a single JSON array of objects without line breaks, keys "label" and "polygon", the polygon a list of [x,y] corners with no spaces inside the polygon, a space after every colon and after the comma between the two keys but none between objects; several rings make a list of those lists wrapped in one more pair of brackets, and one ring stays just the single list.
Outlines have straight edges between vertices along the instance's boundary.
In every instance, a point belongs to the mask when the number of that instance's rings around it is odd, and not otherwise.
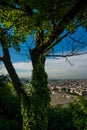
[{"label": "sunlit yellow-green leafy canopy across the top of the tree", "polygon": [[87,27],[86,7],[85,0],[1,0],[0,26],[7,33],[9,47],[14,48],[32,32],[37,35],[38,28],[44,30],[44,47],[38,50],[43,53],[57,44],[55,40],[64,30],[72,33],[78,26]]}]

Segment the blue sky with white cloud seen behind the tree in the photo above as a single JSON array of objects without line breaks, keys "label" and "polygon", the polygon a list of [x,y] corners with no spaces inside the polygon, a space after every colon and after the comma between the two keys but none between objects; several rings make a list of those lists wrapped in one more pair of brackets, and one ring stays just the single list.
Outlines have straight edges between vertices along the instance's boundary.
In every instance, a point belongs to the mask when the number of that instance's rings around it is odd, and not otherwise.
[{"label": "blue sky with white cloud seen behind the tree", "polygon": [[[84,29],[82,28],[78,30],[79,36],[81,40],[85,39],[86,41],[87,33],[85,33],[83,37],[83,31]],[[76,35],[77,34],[75,34],[75,36]],[[67,39],[61,41],[62,44],[55,47],[54,49],[55,53],[59,54],[61,51],[60,49],[61,45],[63,45],[64,48],[65,43],[66,42],[68,43],[69,41],[67,41]],[[33,41],[32,40],[30,41],[30,39],[28,39],[28,42],[31,42],[32,44]],[[74,44],[76,47],[78,47],[78,44],[76,43]],[[65,50],[67,50],[67,46],[65,46],[65,48],[63,53],[66,52]],[[87,47],[84,49],[84,51],[86,50]],[[1,53],[2,52],[0,50],[0,55]],[[13,65],[19,77],[30,79],[32,73],[32,64],[31,61],[26,56],[26,54],[28,54],[28,48],[22,45],[22,51],[20,52],[20,54],[19,53],[17,54],[13,49],[10,50],[10,53]],[[45,70],[48,74],[49,79],[87,79],[87,55],[84,54],[79,56],[68,57],[68,60],[66,60],[65,58],[47,58],[45,64]],[[0,74],[3,73],[7,74],[7,71],[4,65],[0,63]]]}]

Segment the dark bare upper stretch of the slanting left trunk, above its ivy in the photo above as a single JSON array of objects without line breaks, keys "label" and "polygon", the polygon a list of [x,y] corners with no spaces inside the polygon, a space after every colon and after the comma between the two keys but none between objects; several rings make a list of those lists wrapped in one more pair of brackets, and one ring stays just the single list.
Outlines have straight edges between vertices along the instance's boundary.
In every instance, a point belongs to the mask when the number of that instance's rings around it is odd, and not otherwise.
[{"label": "dark bare upper stretch of the slanting left trunk, above its ivy", "polygon": [[2,50],[3,50],[3,57],[2,57],[2,61],[7,69],[7,72],[12,80],[13,86],[18,94],[18,97],[21,100],[21,97],[24,96],[27,100],[27,102],[29,103],[29,96],[27,96],[27,93],[24,91],[23,89],[23,85],[14,69],[14,66],[12,65],[11,62],[11,58],[10,58],[10,54],[9,54],[9,50],[8,48],[6,48],[3,44],[3,42],[1,43],[2,45]]}]

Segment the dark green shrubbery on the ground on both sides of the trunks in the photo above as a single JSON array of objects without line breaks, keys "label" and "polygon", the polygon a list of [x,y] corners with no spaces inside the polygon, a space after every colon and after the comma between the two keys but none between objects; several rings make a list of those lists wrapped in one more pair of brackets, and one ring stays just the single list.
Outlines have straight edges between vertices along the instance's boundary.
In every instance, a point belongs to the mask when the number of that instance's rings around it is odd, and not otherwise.
[{"label": "dark green shrubbery on the ground on both sides of the trunks", "polygon": [[[22,130],[20,102],[6,77],[0,78],[0,130]],[[79,101],[67,107],[49,106],[48,130],[87,130],[87,101]]]}]

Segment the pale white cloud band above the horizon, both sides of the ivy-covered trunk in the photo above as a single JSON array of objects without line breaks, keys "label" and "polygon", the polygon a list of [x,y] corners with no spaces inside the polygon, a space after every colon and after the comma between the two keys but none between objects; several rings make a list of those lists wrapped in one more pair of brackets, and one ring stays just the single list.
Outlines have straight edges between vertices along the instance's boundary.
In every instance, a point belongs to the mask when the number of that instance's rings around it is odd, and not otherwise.
[{"label": "pale white cloud band above the horizon, both sides of the ivy-covered trunk", "polygon": [[[47,59],[45,69],[49,79],[86,79],[87,78],[87,55],[69,57],[68,60],[73,64],[71,66],[65,58]],[[20,77],[31,78],[31,62],[13,63]],[[6,70],[2,66],[2,70]],[[0,70],[1,71],[1,70]],[[1,72],[0,72],[1,73]]]}]

